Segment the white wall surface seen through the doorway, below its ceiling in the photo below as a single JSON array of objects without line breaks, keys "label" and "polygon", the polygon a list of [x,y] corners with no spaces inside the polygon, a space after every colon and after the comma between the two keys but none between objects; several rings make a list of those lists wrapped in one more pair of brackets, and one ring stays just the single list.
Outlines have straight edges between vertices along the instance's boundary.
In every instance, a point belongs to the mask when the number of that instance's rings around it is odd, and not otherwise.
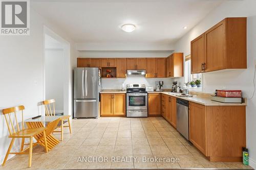
[{"label": "white wall surface seen through the doorway, below its ceiling", "polygon": [[46,99],[55,99],[55,110],[63,112],[63,49],[45,50]]}]

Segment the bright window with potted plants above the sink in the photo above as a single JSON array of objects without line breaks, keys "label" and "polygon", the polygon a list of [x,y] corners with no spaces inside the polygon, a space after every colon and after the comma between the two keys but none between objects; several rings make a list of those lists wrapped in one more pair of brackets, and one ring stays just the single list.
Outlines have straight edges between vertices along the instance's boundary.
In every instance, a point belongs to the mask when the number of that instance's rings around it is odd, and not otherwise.
[{"label": "bright window with potted plants above the sink", "polygon": [[[200,87],[197,87],[195,85],[195,87],[193,88],[200,88],[202,87],[202,74],[199,73],[199,74],[193,74],[191,75],[191,60],[190,60],[190,55],[186,56],[185,57],[185,80],[184,82],[187,83],[187,82],[191,82],[191,81],[196,81],[196,80],[201,80],[201,86]],[[192,88],[192,86],[190,85],[189,87]]]}]

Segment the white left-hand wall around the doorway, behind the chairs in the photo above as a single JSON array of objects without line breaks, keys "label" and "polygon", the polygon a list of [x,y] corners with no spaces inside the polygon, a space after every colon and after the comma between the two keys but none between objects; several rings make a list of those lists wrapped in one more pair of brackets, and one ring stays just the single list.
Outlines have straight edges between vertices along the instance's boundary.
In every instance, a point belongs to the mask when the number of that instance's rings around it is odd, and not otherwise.
[{"label": "white left-hand wall around the doorway, behind the chairs", "polygon": [[[75,63],[74,55],[76,55],[73,41],[61,29],[42,18],[33,9],[30,11],[30,20],[29,36],[1,36],[0,38],[0,109],[24,105],[25,119],[41,114],[42,107],[37,104],[44,100],[44,25],[71,43],[72,67]],[[68,71],[71,73],[72,70]],[[0,161],[2,163],[10,139],[2,112],[0,117]],[[14,143],[14,150],[19,148],[20,141],[18,141],[17,139]]]}]

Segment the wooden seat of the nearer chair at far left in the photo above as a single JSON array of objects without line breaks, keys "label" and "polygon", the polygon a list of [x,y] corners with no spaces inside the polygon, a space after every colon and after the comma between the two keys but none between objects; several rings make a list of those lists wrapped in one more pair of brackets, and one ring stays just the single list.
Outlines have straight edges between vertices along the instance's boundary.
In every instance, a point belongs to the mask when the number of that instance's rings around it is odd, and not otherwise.
[{"label": "wooden seat of the nearer chair at far left", "polygon": [[39,133],[42,133],[44,130],[46,130],[46,127],[41,127],[41,128],[34,128],[34,129],[24,129],[19,132],[13,133],[9,135],[11,138],[24,138],[24,137],[31,137],[35,136]]}]

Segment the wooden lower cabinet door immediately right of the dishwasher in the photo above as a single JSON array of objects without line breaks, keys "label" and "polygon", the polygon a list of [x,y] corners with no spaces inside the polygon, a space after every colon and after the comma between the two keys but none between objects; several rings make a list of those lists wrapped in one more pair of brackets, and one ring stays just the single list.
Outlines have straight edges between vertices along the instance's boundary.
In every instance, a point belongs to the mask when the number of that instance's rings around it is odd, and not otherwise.
[{"label": "wooden lower cabinet door immediately right of the dishwasher", "polygon": [[207,155],[206,107],[193,102],[189,102],[189,141]]}]

